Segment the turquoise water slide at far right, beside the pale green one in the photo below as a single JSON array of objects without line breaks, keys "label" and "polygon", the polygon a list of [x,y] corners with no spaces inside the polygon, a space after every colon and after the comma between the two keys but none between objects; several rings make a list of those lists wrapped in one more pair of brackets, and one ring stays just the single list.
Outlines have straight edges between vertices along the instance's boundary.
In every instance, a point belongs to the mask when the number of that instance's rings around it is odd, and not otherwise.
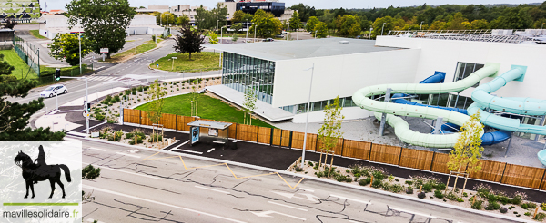
[{"label": "turquoise water slide at far right, beside the pale green one", "polygon": [[[492,81],[480,85],[472,92],[474,103],[468,108],[469,115],[480,111],[480,121],[496,129],[504,131],[518,131],[531,134],[546,135],[546,126],[521,124],[518,119],[511,119],[498,116],[484,109],[508,112],[520,115],[546,115],[546,100],[533,98],[502,98],[490,95],[491,92],[499,90],[508,82],[518,80],[525,74],[526,68],[512,66],[512,69],[502,73]],[[539,160],[546,165],[546,151],[541,150],[538,154]]]}]

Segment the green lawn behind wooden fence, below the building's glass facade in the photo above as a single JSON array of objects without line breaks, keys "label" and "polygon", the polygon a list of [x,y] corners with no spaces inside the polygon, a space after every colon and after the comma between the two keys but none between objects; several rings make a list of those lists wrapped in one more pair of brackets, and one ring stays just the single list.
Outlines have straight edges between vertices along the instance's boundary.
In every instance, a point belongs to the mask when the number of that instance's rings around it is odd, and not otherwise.
[{"label": "green lawn behind wooden fence, below the building's glass facade", "polygon": [[[190,116],[190,95],[191,94],[182,94],[165,99],[165,107],[163,108],[163,112],[169,114]],[[202,119],[228,121],[240,124],[243,123],[243,111],[239,111],[238,109],[229,106],[227,103],[222,102],[219,99],[199,94],[199,99],[197,100],[197,103],[197,115]],[[149,110],[148,104],[140,105],[136,107],[136,109],[142,111]],[[253,119],[252,125],[275,128],[267,122],[258,119]]]}]

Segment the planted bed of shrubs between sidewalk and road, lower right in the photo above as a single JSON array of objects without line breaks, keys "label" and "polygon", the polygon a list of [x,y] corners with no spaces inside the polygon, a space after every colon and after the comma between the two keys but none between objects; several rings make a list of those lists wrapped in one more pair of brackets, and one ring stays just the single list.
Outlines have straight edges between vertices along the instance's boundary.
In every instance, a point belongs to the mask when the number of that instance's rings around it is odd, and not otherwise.
[{"label": "planted bed of shrubs between sidewalk and road, lower right", "polygon": [[[350,168],[329,166],[319,168],[318,162],[308,161],[301,169],[294,166],[290,171],[303,173],[318,178],[328,178],[371,189],[382,189],[418,199],[429,199],[437,202],[456,205],[463,208],[473,208],[495,214],[508,215],[522,220],[543,221],[546,218],[546,203],[527,201],[525,193],[506,194],[503,191],[491,189],[481,184],[474,189],[452,189],[446,187],[439,179],[423,176],[411,176],[403,179],[389,175],[386,170],[372,166],[351,166]],[[452,181],[451,181],[452,182]],[[535,210],[538,213],[535,215]]]}]

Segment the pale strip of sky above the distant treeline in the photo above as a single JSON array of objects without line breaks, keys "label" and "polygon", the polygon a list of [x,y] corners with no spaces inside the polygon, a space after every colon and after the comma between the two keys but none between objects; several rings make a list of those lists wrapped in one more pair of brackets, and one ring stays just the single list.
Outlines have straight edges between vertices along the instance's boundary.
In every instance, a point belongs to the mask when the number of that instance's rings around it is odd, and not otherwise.
[{"label": "pale strip of sky above the distant treeline", "polygon": [[[42,4],[42,9],[44,8],[45,3],[47,4],[47,10],[51,9],[65,9],[65,5],[69,0],[40,0]],[[149,0],[129,0],[131,6],[145,6],[150,4]],[[160,5],[204,5],[208,7],[214,7],[219,2],[218,0],[162,0]],[[284,2],[287,6],[296,5],[303,3],[309,6],[315,6],[316,9],[330,9],[330,8],[384,8],[389,5],[393,6],[413,6],[413,5],[446,5],[446,4],[459,4],[459,5],[479,5],[479,4],[528,4],[528,3],[538,3],[542,2],[541,0],[382,0],[382,1],[371,1],[371,0],[280,0]],[[159,4],[156,4],[159,5]]]}]

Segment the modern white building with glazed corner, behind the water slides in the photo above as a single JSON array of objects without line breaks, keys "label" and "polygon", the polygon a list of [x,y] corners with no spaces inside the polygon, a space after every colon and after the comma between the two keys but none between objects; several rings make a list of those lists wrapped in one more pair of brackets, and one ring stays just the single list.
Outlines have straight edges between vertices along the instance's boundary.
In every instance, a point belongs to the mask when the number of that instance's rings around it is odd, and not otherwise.
[{"label": "modern white building with glazed corner, behind the water slides", "polygon": [[[309,121],[322,121],[323,107],[338,95],[345,107],[346,119],[365,118],[372,112],[355,107],[351,100],[353,93],[363,87],[419,83],[435,72],[447,73],[445,82],[455,82],[479,70],[485,63],[500,63],[500,73],[510,70],[511,65],[527,67],[523,81],[509,82],[495,92],[498,96],[546,100],[543,90],[546,83],[546,63],[543,60],[546,58],[546,44],[521,44],[522,39],[510,38],[507,39],[510,41],[501,38],[500,43],[492,42],[495,40],[483,42],[483,39],[384,35],[378,36],[377,41],[325,38],[209,47],[224,52],[223,89],[218,87],[215,91],[242,95],[246,88],[253,87],[258,90],[258,100],[269,104],[270,110],[286,112],[277,112],[282,119],[274,114],[264,115],[267,112],[257,112],[258,115],[269,121],[291,119],[305,122],[311,73]],[[311,67],[314,70],[308,69]],[[480,83],[491,80],[485,78]],[[473,102],[470,98],[473,89],[421,95],[415,101],[466,109]],[[260,105],[265,106],[263,103]],[[521,122],[541,124],[541,117],[521,117]]]}]

